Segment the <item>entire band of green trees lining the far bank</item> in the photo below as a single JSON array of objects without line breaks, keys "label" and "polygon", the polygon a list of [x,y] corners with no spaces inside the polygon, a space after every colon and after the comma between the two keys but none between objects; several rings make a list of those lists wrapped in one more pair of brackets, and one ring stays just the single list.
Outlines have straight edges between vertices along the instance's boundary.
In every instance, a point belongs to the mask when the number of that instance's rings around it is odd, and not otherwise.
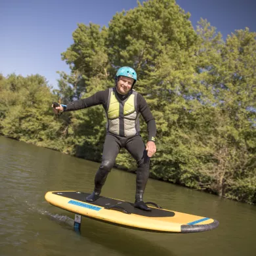
[{"label": "entire band of green trees lining the far bank", "polygon": [[[0,135],[100,161],[102,106],[54,117],[51,104],[114,87],[116,69],[131,66],[156,118],[150,177],[255,204],[256,33],[224,40],[207,20],[194,29],[189,17],[174,0],[151,0],[117,12],[108,28],[77,24],[58,89],[39,74],[0,74]],[[140,126],[146,142],[143,119]],[[121,150],[116,167],[135,171],[136,163]]]}]

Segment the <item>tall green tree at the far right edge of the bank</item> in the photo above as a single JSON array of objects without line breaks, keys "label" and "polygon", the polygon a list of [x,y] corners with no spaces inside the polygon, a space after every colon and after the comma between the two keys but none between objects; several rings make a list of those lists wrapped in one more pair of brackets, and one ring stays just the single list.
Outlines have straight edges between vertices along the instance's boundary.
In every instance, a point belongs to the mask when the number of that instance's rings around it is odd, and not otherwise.
[{"label": "tall green tree at the far right edge of the bank", "polygon": [[208,173],[215,182],[209,187],[220,196],[251,203],[256,200],[255,35],[247,28],[228,35],[221,61],[210,65],[205,79],[216,99],[208,140],[213,159]]}]

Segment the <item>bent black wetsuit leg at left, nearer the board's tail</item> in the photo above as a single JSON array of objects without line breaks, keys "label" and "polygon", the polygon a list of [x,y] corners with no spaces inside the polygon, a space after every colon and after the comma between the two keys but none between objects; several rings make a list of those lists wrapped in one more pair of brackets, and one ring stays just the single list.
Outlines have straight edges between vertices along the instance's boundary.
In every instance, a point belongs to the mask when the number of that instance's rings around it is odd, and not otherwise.
[{"label": "bent black wetsuit leg at left, nearer the board's tail", "polygon": [[93,202],[98,199],[102,186],[108,177],[108,173],[110,173],[116,161],[120,146],[119,140],[116,137],[110,134],[106,135],[102,153],[102,162],[95,175],[95,189],[91,195],[87,196],[87,201]]}]

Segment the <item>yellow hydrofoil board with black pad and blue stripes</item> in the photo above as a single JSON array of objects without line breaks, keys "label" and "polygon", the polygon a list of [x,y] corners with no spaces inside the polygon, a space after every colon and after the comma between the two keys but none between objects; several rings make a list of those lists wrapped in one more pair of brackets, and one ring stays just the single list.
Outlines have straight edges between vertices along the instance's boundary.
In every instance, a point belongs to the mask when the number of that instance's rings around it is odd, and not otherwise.
[{"label": "yellow hydrofoil board with black pad and blue stripes", "polygon": [[88,202],[89,193],[77,191],[53,191],[45,194],[47,202],[72,213],[105,223],[150,232],[202,232],[219,226],[215,219],[159,209],[148,204],[152,211],[143,211],[133,203],[100,196]]}]

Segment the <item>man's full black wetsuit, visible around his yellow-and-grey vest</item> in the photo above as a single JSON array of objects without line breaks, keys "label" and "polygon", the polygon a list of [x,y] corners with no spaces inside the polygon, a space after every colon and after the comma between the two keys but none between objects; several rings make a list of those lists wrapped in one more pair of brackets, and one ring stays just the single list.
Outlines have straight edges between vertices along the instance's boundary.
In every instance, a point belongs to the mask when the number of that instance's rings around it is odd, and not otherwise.
[{"label": "man's full black wetsuit, visible around his yellow-and-grey vest", "polygon": [[[127,98],[131,95],[131,93],[133,93],[132,91],[130,91],[127,95],[120,95],[119,93],[117,93],[116,88],[114,88],[113,91],[116,95],[117,100],[119,101],[119,104],[122,105],[123,102],[125,102],[125,100],[127,100]],[[109,103],[108,101],[110,100],[109,94],[110,89],[106,89],[105,91],[98,91],[98,93],[95,93],[95,95],[92,95],[88,98],[83,98],[81,100],[75,100],[74,102],[70,102],[69,104],[67,104],[64,111],[66,112],[72,110],[79,110],[99,104],[102,104],[104,110],[107,111]],[[154,117],[152,116],[152,113],[150,112],[150,109],[148,108],[148,105],[146,104],[146,100],[139,93],[137,93],[135,104],[137,112],[142,115],[147,123],[148,141],[154,141],[156,137],[156,122],[154,120]],[[123,129],[123,126],[121,127],[121,129]],[[120,134],[123,135],[123,131],[120,131]],[[111,133],[110,131],[108,131],[108,126],[106,139],[104,142],[104,149],[102,153],[102,163],[100,164],[100,167],[95,175],[95,190],[91,195],[91,198],[89,197],[87,198],[87,200],[95,201],[97,199],[97,196],[100,194],[101,188],[104,185],[108,173],[112,169],[116,161],[116,156],[121,148],[125,148],[137,161],[137,186],[135,194],[135,204],[136,202],[142,202],[142,196],[149,176],[150,158],[147,156],[144,142],[139,135],[139,129],[136,129],[135,135],[125,137]],[[140,208],[150,210],[148,207]]]}]

